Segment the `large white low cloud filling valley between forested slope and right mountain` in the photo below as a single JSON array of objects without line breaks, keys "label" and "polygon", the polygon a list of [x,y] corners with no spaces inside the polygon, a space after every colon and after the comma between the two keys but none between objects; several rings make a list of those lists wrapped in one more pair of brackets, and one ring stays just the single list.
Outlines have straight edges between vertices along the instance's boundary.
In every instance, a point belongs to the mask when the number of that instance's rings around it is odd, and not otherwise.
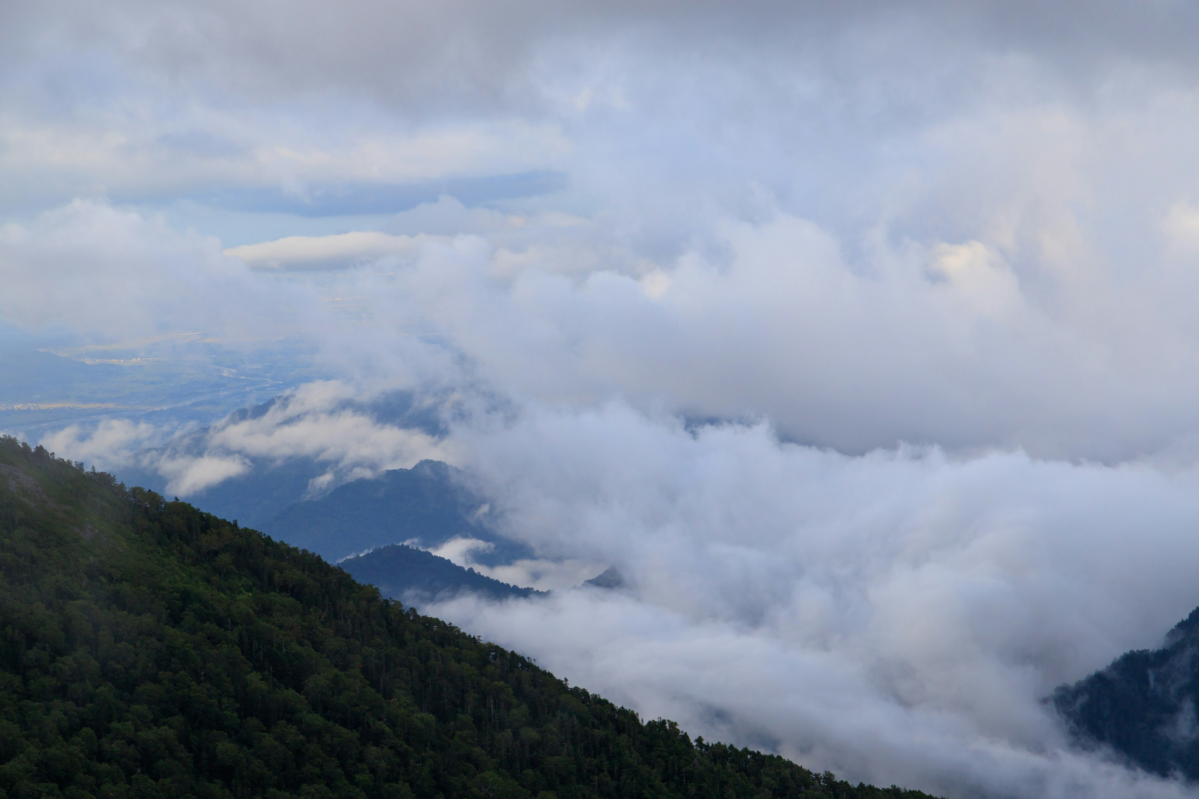
[{"label": "large white low cloud filling valley between forested slope and right mountain", "polygon": [[946,795],[1193,795],[1071,749],[1054,686],[1197,604],[1199,472],[848,456],[613,404],[457,430],[501,532],[625,592],[430,609],[646,716]]}]

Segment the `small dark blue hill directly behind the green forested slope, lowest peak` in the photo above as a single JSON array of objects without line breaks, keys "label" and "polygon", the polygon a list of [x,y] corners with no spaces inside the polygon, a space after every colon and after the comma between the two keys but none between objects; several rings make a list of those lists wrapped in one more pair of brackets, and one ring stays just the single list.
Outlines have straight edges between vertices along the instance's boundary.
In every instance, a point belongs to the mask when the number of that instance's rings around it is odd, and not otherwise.
[{"label": "small dark blue hill directly behind the green forested slope, lowest peak", "polygon": [[359,582],[368,582],[384,597],[403,600],[405,605],[422,605],[445,600],[463,593],[488,599],[544,597],[549,592],[518,588],[493,580],[474,569],[464,569],[453,561],[432,552],[392,544],[366,555],[338,563]]}]

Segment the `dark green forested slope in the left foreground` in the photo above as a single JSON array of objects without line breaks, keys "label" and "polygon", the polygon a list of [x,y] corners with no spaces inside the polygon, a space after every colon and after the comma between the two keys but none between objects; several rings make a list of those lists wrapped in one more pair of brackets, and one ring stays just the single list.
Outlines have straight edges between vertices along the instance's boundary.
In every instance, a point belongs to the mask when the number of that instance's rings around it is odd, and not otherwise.
[{"label": "dark green forested slope in the left foreground", "polygon": [[0,438],[0,798],[922,797],[641,722],[317,556]]}]

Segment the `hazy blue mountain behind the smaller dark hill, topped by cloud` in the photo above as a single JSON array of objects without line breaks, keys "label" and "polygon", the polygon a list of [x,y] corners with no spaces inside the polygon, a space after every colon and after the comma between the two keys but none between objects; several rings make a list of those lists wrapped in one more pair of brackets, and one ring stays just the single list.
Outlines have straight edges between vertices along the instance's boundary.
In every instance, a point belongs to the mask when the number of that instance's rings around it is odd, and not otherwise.
[{"label": "hazy blue mountain behind the smaller dark hill, topped by cloud", "polygon": [[337,561],[364,550],[416,541],[433,547],[452,538],[490,544],[480,552],[498,562],[528,556],[476,521],[482,502],[447,464],[422,460],[411,468],[341,485],[318,500],[297,502],[263,525],[263,532]]}]

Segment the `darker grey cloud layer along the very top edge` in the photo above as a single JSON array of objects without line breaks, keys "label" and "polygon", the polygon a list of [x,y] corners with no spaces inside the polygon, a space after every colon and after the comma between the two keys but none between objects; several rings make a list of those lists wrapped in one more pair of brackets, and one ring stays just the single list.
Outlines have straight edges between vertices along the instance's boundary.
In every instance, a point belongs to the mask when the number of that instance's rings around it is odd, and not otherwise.
[{"label": "darker grey cloud layer along the very top edge", "polygon": [[[775,53],[818,50],[838,71],[870,52],[915,65],[957,47],[996,56],[1061,62],[1104,60],[1193,63],[1183,2],[486,2],[360,1],[158,4],[137,0],[106,12],[76,2],[13,4],[10,57],[48,42],[108,52],[188,87],[301,92],[372,91],[380,98],[529,102],[534,61],[555,40],[573,47],[646,36],[676,49],[737,57],[752,46]],[[1189,23],[1189,24],[1188,24]],[[35,31],[41,36],[17,35]],[[899,43],[940,43],[932,53]],[[548,44],[547,44],[548,43]],[[733,50],[730,53],[730,50]],[[864,65],[863,65],[864,66]],[[201,83],[203,86],[203,83]]]}]

